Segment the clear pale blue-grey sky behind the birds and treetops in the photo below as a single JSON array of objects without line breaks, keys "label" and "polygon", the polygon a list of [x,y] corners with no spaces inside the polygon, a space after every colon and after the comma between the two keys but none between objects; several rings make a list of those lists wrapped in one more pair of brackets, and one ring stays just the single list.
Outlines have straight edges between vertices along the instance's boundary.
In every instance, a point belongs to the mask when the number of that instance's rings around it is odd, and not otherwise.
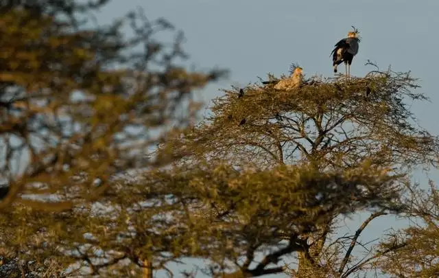
[{"label": "clear pale blue-grey sky behind the birds and treetops", "polygon": [[[219,88],[246,86],[268,72],[279,76],[287,73],[291,62],[299,62],[307,76],[332,76],[329,54],[355,25],[362,40],[351,74],[364,76],[370,71],[372,67],[364,66],[368,59],[380,69],[392,65],[394,71],[412,71],[420,78],[418,91],[431,98],[431,103],[414,103],[412,111],[421,126],[439,134],[438,0],[113,0],[99,14],[99,21],[109,22],[137,6],[149,19],[163,16],[185,32],[185,50],[198,68],[230,69],[228,80],[203,90],[206,105],[222,95]],[[429,177],[439,181],[438,171]],[[414,181],[425,183],[425,174],[416,172]],[[346,222],[355,231],[367,217],[361,214]],[[366,239],[401,225],[394,217],[375,220],[366,229]]]}]

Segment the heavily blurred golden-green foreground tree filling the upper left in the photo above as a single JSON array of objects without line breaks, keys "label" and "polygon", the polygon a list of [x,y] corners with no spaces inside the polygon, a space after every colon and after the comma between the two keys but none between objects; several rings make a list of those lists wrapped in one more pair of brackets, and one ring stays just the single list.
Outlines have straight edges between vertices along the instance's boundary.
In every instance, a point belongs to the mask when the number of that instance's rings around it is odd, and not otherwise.
[{"label": "heavily blurred golden-green foreground tree filling the upper left", "polygon": [[[112,174],[158,163],[145,159],[145,150],[161,141],[160,128],[185,126],[190,117],[179,108],[191,91],[222,74],[178,66],[187,57],[182,34],[169,44],[154,38],[173,29],[163,19],[130,13],[88,27],[80,19],[108,1],[96,2],[0,7],[0,174],[10,187],[0,208],[14,200],[36,205],[19,194],[56,193],[60,201],[43,207],[64,209],[74,198],[99,196]],[[71,181],[77,174],[80,181]]]}]

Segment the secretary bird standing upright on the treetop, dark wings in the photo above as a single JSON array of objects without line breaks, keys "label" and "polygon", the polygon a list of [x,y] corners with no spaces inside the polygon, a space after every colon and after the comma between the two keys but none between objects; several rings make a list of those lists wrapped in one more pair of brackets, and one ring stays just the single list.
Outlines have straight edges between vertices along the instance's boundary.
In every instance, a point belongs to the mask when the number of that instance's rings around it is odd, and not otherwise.
[{"label": "secretary bird standing upright on the treetop, dark wings", "polygon": [[355,27],[353,29],[353,32],[348,32],[347,38],[343,38],[335,44],[335,48],[331,52],[334,73],[337,72],[337,66],[344,62],[346,78],[351,76],[351,63],[354,56],[358,53],[358,44],[360,42],[359,31]]}]

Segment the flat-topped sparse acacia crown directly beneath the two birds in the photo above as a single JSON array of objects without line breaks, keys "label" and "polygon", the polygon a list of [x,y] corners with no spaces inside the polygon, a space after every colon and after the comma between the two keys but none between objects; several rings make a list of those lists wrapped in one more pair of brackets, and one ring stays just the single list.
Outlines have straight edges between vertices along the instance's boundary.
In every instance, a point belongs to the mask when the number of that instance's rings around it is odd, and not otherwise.
[{"label": "flat-topped sparse acacia crown directly beneath the two birds", "polygon": [[211,117],[187,132],[181,150],[258,167],[436,163],[438,139],[418,126],[407,104],[427,100],[412,91],[415,81],[410,73],[372,71],[350,80],[311,78],[290,91],[252,84],[239,97],[237,88],[226,90]]}]

